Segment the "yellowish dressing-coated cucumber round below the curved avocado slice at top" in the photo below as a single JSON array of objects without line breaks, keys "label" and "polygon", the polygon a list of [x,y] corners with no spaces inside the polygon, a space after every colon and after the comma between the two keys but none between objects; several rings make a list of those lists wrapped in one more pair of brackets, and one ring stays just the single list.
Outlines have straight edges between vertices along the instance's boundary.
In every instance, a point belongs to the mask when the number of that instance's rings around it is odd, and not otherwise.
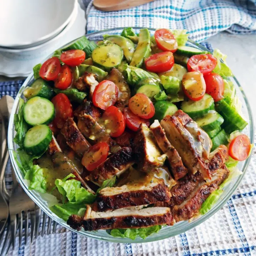
[{"label": "yellowish dressing-coated cucumber round below the curved avocado slice at top", "polygon": [[110,70],[121,64],[123,50],[117,44],[102,44],[92,51],[91,57],[95,64]]}]

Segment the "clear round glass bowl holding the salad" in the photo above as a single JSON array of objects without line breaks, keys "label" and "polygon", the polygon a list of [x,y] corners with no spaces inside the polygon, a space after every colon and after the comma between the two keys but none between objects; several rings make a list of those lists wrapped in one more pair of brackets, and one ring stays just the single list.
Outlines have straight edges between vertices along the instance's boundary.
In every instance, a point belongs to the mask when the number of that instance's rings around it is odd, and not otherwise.
[{"label": "clear round glass bowl holding the salad", "polygon": [[[139,32],[139,30],[142,27],[134,27],[134,30],[136,33]],[[99,41],[102,40],[103,34],[121,34],[123,28],[114,28],[110,30],[103,30],[99,32],[94,32],[87,34],[87,38],[90,40],[94,41]],[[151,34],[154,34],[154,29],[149,29]],[[200,44],[188,40],[187,46],[193,46],[202,50],[207,50],[206,48],[202,47]],[[52,55],[52,54],[51,54]],[[48,57],[49,58],[49,57]],[[48,59],[47,58],[47,59]],[[43,62],[42,62],[43,63]],[[9,122],[9,129],[8,129],[8,145],[9,145],[9,152],[10,152],[10,158],[12,165],[14,167],[15,174],[17,176],[18,182],[20,182],[21,186],[23,189],[26,191],[26,193],[33,199],[33,201],[44,211],[46,214],[48,214],[53,220],[58,222],[59,224],[63,225],[65,228],[68,228],[78,234],[87,236],[89,238],[94,238],[94,239],[99,239],[99,240],[104,240],[104,241],[110,241],[110,242],[133,242],[133,243],[140,243],[140,242],[151,242],[151,241],[156,241],[156,240],[161,240],[165,238],[169,238],[171,236],[175,236],[178,234],[181,234],[189,229],[194,228],[195,226],[201,224],[205,220],[207,220],[209,217],[211,217],[214,213],[216,213],[222,206],[229,200],[229,198],[232,196],[232,194],[235,192],[236,188],[239,186],[242,178],[245,175],[245,172],[247,170],[247,167],[250,162],[250,157],[246,159],[244,162],[240,162],[238,165],[239,170],[242,171],[242,175],[234,178],[232,182],[229,183],[229,185],[224,187],[224,192],[222,196],[219,198],[217,203],[212,207],[212,209],[209,210],[204,215],[199,216],[196,219],[193,219],[191,221],[183,221],[183,222],[178,222],[174,226],[165,226],[163,227],[158,233],[154,233],[150,236],[148,236],[145,240],[143,240],[140,237],[137,237],[135,240],[130,240],[128,238],[116,238],[108,234],[105,230],[98,230],[98,231],[76,231],[70,228],[68,224],[57,215],[52,213],[48,207],[47,201],[45,200],[44,194],[38,193],[33,190],[28,190],[28,186],[26,181],[23,179],[22,172],[20,171],[18,165],[16,164],[16,161],[14,159],[14,151],[17,150],[17,145],[14,143],[14,136],[15,136],[15,130],[14,130],[14,114],[17,113],[18,111],[18,103],[19,103],[19,98],[23,97],[22,92],[24,89],[31,84],[33,81],[33,73],[31,73],[28,78],[25,80],[24,84],[22,85],[20,91],[17,94],[17,97],[14,102],[14,106],[12,108],[11,112],[11,117],[10,117],[10,122]],[[236,87],[236,94],[239,96],[241,102],[242,102],[242,113],[244,114],[245,119],[248,121],[248,125],[243,131],[245,134],[247,134],[250,138],[251,143],[254,143],[254,125],[253,125],[253,118],[252,118],[252,112],[251,108],[249,105],[249,102],[244,94],[244,91],[242,90],[242,87],[240,86],[239,82],[236,80],[235,77],[232,78],[232,81]]]}]

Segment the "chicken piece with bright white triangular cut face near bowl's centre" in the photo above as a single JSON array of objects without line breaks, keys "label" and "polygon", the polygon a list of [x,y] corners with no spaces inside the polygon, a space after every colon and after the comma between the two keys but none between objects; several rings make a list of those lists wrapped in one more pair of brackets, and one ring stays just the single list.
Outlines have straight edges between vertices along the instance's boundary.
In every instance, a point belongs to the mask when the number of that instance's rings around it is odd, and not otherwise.
[{"label": "chicken piece with bright white triangular cut face near bowl's centre", "polygon": [[154,136],[146,124],[140,124],[133,144],[134,153],[138,158],[142,171],[150,172],[154,167],[159,167],[164,164],[166,155],[161,154]]}]

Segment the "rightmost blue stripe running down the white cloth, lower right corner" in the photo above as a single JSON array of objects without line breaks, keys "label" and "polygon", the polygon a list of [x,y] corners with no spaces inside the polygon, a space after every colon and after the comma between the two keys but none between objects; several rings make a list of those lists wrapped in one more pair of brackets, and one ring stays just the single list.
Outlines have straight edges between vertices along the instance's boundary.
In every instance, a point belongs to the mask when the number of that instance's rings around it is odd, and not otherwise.
[{"label": "rightmost blue stripe running down the white cloth, lower right corner", "polygon": [[[233,223],[235,225],[235,229],[238,233],[238,236],[239,236],[239,238],[242,242],[243,248],[244,248],[243,252],[248,252],[249,244],[248,244],[247,239],[245,237],[244,230],[242,229],[242,225],[241,225],[240,220],[238,218],[238,215],[236,213],[236,209],[235,209],[235,206],[232,202],[232,199],[229,199],[229,201],[227,203],[228,203],[228,208],[229,208],[231,217],[233,219]],[[246,248],[248,248],[248,249],[246,249]],[[249,250],[248,255],[251,255],[250,250]]]}]

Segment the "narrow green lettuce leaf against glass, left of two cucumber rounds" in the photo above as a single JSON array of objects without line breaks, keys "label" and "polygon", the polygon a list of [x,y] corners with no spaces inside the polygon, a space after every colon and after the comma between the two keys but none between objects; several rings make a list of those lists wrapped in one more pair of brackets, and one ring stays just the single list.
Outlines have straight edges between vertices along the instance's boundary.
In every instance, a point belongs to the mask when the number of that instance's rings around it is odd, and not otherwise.
[{"label": "narrow green lettuce leaf against glass, left of two cucumber rounds", "polygon": [[29,129],[29,126],[24,119],[24,114],[23,114],[24,105],[25,105],[24,100],[20,98],[18,114],[14,114],[14,126],[16,131],[14,142],[18,144],[21,148],[23,148],[23,141],[25,138],[25,134]]}]

